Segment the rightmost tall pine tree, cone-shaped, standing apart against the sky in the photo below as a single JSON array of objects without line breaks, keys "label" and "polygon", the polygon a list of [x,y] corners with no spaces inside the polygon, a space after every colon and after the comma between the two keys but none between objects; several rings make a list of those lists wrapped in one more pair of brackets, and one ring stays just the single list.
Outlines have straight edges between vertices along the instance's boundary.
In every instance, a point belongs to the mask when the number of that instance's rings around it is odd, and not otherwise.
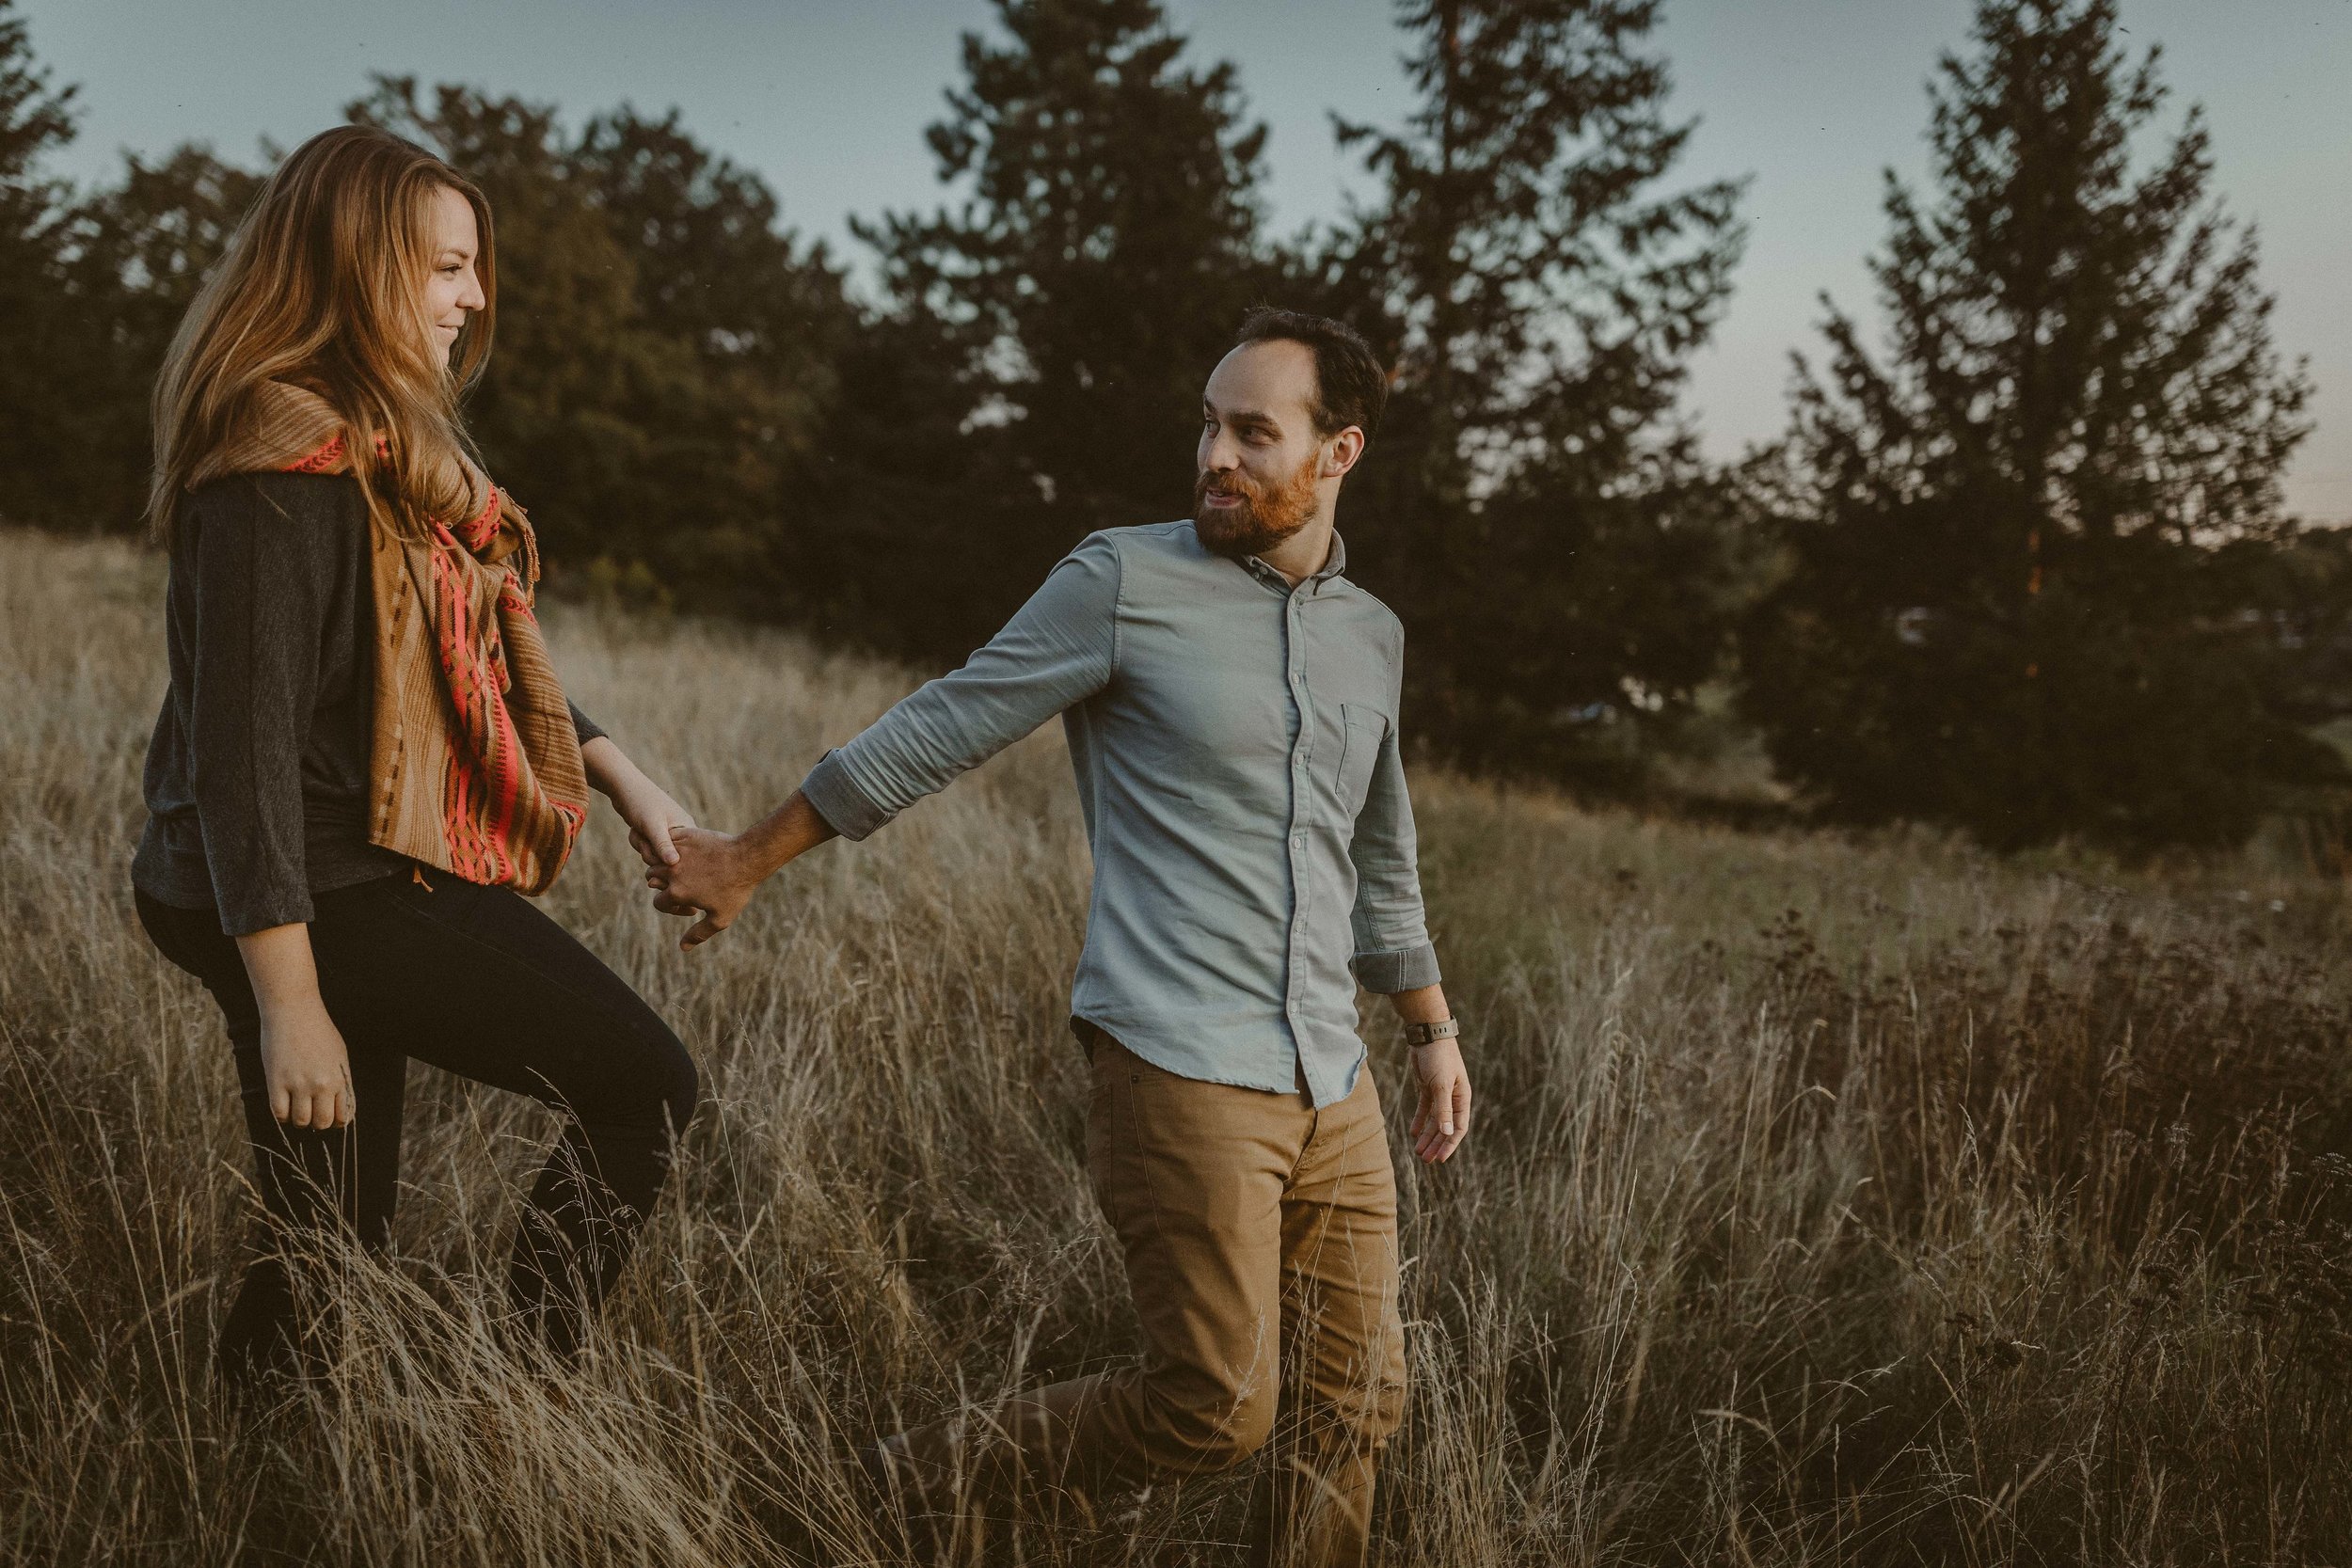
[{"label": "rightmost tall pine tree, cone-shaped, standing apart against the sky", "polygon": [[2201,115],[2136,167],[2157,63],[2114,0],[1983,0],[1931,85],[1933,205],[1886,176],[1886,355],[1832,308],[1828,376],[1799,362],[1743,701],[1835,813],[2216,844],[2336,771],[2265,607],[2307,383]]}]

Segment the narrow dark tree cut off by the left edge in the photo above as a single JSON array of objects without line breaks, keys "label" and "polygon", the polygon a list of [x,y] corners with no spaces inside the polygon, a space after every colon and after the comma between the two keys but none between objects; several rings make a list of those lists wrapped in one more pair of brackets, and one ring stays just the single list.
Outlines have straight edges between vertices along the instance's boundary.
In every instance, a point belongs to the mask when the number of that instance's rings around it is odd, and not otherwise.
[{"label": "narrow dark tree cut off by the left edge", "polygon": [[[59,489],[85,346],[66,308],[68,193],[40,160],[73,139],[73,89],[49,85],[14,0],[0,0],[0,520],[78,522]],[[38,371],[38,374],[28,374]]]}]

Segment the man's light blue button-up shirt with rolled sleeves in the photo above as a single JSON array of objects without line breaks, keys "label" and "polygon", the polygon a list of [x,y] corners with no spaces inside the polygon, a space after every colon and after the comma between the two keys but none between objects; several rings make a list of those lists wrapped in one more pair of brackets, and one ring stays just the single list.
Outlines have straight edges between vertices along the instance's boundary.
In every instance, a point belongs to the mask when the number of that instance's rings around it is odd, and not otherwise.
[{"label": "man's light blue button-up shirt with rolled sleeves", "polygon": [[1070,1011],[1169,1072],[1355,1088],[1355,983],[1437,983],[1397,757],[1404,628],[1190,522],[1094,534],[962,670],[802,783],[863,839],[1056,712],[1094,849]]}]

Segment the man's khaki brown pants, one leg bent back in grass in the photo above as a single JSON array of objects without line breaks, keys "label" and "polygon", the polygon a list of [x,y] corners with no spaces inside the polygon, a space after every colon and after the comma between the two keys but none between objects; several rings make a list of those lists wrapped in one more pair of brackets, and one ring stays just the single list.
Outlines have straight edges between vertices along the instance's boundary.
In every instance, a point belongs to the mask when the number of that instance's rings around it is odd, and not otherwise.
[{"label": "man's khaki brown pants, one leg bent back in grass", "polygon": [[1258,1561],[1364,1561],[1404,1413],[1397,1185],[1371,1070],[1338,1105],[1202,1084],[1094,1030],[1087,1168],[1127,1255],[1143,1361],[894,1439],[934,1483],[1197,1476],[1272,1446]]}]

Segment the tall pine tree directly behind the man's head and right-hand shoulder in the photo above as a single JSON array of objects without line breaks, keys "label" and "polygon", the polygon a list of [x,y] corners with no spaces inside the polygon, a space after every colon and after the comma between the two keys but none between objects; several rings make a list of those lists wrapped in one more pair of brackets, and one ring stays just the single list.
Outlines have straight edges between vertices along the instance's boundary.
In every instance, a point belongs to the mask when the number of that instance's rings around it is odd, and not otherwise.
[{"label": "tall pine tree directly behind the man's head and right-hand shoulder", "polygon": [[[1352,484],[1406,621],[1414,726],[1477,766],[1618,773],[1717,672],[1724,489],[1675,418],[1738,259],[1738,183],[1661,190],[1691,125],[1656,0],[1406,0],[1402,132],[1343,125],[1385,200],[1324,289],[1397,353]],[[1632,724],[1606,724],[1630,719]]]}]

